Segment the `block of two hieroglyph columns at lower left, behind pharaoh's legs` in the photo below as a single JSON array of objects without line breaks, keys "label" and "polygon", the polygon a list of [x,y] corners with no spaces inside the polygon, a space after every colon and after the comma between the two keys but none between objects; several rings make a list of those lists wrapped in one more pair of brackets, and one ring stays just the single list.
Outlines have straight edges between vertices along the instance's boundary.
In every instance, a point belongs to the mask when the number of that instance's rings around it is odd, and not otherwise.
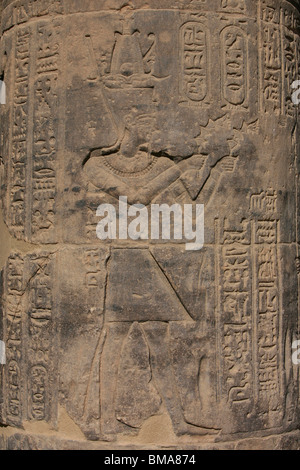
[{"label": "block of two hieroglyph columns at lower left, behind pharaoh's legs", "polygon": [[53,259],[48,254],[25,258],[14,255],[7,263],[4,298],[7,424],[20,426],[26,419],[51,418],[53,278]]}]

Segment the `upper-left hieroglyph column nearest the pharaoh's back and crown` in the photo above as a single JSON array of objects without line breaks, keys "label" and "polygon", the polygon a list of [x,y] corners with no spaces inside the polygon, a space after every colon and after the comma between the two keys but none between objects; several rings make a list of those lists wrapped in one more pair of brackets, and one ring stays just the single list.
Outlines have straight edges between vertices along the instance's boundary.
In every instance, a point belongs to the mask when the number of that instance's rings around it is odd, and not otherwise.
[{"label": "upper-left hieroglyph column nearest the pharaoh's back and crown", "polygon": [[34,144],[32,173],[32,234],[53,238],[56,196],[57,78],[59,44],[57,31],[38,27],[37,70],[34,94]]}]

